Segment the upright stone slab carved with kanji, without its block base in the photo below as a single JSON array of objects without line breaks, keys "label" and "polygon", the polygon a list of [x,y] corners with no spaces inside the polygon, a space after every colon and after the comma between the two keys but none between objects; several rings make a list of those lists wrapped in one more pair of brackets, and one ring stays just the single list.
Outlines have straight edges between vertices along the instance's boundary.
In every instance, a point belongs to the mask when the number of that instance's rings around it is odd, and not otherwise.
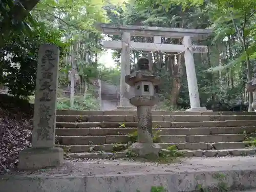
[{"label": "upright stone slab carved with kanji, without its block base", "polygon": [[55,144],[58,63],[57,46],[40,46],[36,75],[33,147],[53,147]]}]

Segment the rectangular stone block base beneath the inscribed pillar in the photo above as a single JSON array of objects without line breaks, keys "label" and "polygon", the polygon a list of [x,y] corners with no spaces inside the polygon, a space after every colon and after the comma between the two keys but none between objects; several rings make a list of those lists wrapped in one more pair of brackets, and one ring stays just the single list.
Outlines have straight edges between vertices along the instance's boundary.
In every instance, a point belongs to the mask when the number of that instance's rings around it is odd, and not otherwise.
[{"label": "rectangular stone block base beneath the inscribed pillar", "polygon": [[19,169],[39,169],[59,166],[64,162],[63,150],[59,147],[52,148],[27,148],[19,152]]}]

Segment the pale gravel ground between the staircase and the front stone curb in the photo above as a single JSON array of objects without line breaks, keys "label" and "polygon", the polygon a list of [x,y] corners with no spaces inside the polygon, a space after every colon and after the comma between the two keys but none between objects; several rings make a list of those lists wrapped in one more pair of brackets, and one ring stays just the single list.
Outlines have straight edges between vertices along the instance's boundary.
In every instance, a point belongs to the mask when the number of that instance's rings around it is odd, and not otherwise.
[{"label": "pale gravel ground between the staircase and the front stone curb", "polygon": [[256,169],[256,156],[244,157],[212,157],[183,158],[177,163],[157,164],[124,159],[116,160],[69,160],[61,167],[40,169],[34,172],[13,170],[11,175],[42,175],[42,176],[100,176],[127,174],[164,174],[184,172],[205,172],[218,170],[252,170]]}]

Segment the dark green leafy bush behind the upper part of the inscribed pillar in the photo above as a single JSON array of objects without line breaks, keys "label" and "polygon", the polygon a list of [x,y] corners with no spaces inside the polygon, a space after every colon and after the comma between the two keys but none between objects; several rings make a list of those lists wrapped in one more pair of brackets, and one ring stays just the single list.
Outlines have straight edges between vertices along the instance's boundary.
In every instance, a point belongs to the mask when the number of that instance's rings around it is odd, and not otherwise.
[{"label": "dark green leafy bush behind the upper part of the inscribed pillar", "polygon": [[[35,77],[38,58],[38,47],[42,44],[55,44],[60,48],[60,58],[65,55],[66,45],[60,40],[61,31],[37,25],[29,37],[25,35],[10,36],[10,40],[1,49],[1,82],[8,87],[14,96],[28,97],[35,90]],[[9,59],[5,56],[11,55]]]}]

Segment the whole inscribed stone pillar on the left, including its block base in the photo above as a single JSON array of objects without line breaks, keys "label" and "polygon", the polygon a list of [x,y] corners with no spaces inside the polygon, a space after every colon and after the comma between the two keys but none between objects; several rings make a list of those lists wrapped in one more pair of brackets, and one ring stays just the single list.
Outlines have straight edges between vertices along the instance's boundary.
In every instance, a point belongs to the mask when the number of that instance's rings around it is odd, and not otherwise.
[{"label": "whole inscribed stone pillar on the left, including its block base", "polygon": [[63,163],[62,148],[55,145],[55,122],[59,49],[54,45],[39,48],[32,148],[19,153],[20,169],[38,169]]}]

